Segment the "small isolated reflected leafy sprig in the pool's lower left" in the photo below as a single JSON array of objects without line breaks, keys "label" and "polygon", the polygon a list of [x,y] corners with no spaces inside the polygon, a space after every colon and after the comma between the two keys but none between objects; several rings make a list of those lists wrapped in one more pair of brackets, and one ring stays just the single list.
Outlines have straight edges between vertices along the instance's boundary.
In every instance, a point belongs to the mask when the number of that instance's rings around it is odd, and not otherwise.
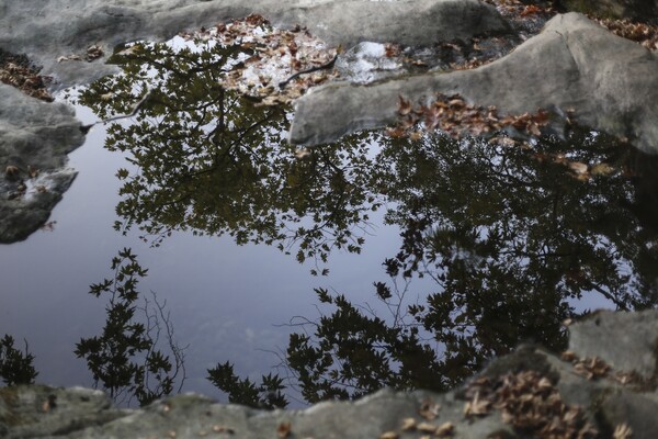
[{"label": "small isolated reflected leafy sprig in the pool's lower left", "polygon": [[[123,249],[112,260],[113,279],[91,285],[90,294],[107,297],[105,326],[100,336],[82,338],[75,353],[87,361],[94,385],[124,402],[135,397],[146,405],[178,390],[185,380],[184,356],[173,340],[173,328],[164,304],[155,300],[137,305],[139,279],[147,270],[139,266],[131,249]],[[140,317],[139,315],[143,314]],[[166,348],[160,347],[160,336]],[[169,353],[167,353],[169,351]]]}]

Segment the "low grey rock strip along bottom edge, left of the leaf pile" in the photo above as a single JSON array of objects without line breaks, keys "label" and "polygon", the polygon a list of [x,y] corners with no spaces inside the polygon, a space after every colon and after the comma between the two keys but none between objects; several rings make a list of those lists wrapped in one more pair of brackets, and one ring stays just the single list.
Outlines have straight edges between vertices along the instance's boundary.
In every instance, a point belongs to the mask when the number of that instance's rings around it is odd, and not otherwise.
[{"label": "low grey rock strip along bottom edge, left of the leaf pile", "polygon": [[[378,438],[395,431],[400,439],[417,438],[417,431],[402,431],[405,418],[417,423],[422,403],[439,404],[433,425],[451,421],[454,438],[486,438],[492,431],[515,437],[500,416],[466,419],[465,402],[452,394],[379,391],[355,402],[327,402],[303,410],[256,410],[238,405],[218,404],[202,395],[177,395],[143,409],[106,405],[106,399],[90,390],[45,386],[0,389],[0,432],[7,439],[26,437],[91,438]],[[11,396],[7,396],[7,395]],[[61,396],[61,395],[65,396]],[[56,395],[53,399],[53,395]],[[82,398],[82,396],[84,398]],[[2,403],[2,401],[5,401]],[[11,401],[10,401],[11,399]],[[48,401],[56,405],[49,407]],[[77,407],[76,407],[77,403]],[[290,424],[290,435],[277,432]]]}]

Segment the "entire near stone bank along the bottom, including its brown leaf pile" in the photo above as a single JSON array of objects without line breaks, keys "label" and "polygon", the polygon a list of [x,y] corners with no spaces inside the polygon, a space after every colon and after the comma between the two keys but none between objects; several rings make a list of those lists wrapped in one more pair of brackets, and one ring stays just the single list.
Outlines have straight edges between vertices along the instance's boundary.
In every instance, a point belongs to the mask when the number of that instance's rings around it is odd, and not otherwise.
[{"label": "entire near stone bank along the bottom, including its brown leaf pile", "polygon": [[561,357],[541,347],[521,346],[453,392],[382,390],[355,402],[326,402],[303,410],[256,410],[194,394],[158,401],[143,409],[118,409],[99,391],[3,387],[0,436],[650,438],[658,431],[655,383],[638,376],[642,364],[639,369],[632,363],[627,369],[611,365],[624,358],[655,361],[657,320],[658,311],[600,312],[569,327],[572,350]]}]

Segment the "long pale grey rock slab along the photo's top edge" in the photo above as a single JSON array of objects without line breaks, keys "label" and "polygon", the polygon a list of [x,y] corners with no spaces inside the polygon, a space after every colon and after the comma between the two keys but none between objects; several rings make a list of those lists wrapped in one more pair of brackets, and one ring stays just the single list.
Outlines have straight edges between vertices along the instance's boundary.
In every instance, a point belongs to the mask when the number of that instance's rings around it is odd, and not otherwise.
[{"label": "long pale grey rock slab along the photo's top edge", "polygon": [[508,32],[494,7],[478,0],[0,0],[0,47],[26,53],[53,74],[60,87],[84,83],[116,71],[101,58],[64,61],[92,44],[106,54],[134,40],[167,40],[183,30],[260,13],[274,25],[307,26],[331,45],[361,42],[434,44],[484,33]]}]

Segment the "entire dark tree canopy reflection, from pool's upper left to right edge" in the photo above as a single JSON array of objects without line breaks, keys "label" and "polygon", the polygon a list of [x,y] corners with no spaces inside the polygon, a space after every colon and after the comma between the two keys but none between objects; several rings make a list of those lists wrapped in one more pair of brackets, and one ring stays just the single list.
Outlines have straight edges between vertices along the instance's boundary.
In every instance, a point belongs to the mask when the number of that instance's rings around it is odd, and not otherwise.
[{"label": "entire dark tree canopy reflection, from pool's upper left to right edge", "polygon": [[[156,244],[173,230],[228,233],[326,261],[332,248],[359,251],[368,212],[394,206],[386,221],[402,230],[400,251],[375,282],[393,315],[316,291],[332,311],[298,322],[284,353],[307,402],[382,386],[445,390],[520,342],[564,349],[561,323],[582,314],[574,304],[586,296],[619,309],[656,304],[654,158],[576,131],[531,148],[362,133],[296,159],[283,139],[287,109],[220,86],[253,48],[135,47],[120,59],[125,75],[81,98],[101,117],[129,113],[150,83],[136,123],[109,131],[106,147],[136,166],[118,172],[117,227],[138,225]],[[569,164],[589,168],[571,166],[576,175]],[[286,403],[277,376],[259,385],[228,362],[208,372],[234,402]]]}]

